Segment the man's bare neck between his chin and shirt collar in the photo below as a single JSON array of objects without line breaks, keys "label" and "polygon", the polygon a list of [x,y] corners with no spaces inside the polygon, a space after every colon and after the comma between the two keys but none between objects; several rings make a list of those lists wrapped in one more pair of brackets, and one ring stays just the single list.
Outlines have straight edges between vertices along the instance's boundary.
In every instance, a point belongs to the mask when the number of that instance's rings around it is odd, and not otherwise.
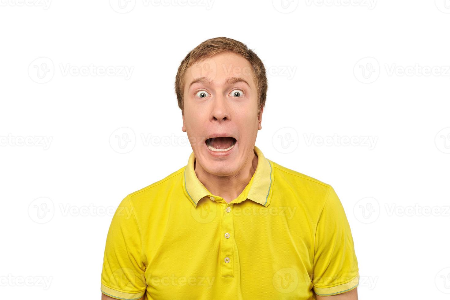
[{"label": "man's bare neck between his chin and shirt collar", "polygon": [[250,158],[236,174],[217,176],[208,173],[194,161],[194,170],[198,180],[213,194],[229,203],[236,199],[252,179],[258,165],[258,156],[252,151]]}]

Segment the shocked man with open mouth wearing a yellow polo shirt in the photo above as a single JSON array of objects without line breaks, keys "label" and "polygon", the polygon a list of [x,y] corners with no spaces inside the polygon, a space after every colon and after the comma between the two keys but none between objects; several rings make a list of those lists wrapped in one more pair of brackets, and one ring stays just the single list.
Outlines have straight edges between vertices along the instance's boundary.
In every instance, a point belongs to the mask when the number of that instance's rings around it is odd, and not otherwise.
[{"label": "shocked man with open mouth wearing a yellow polo shirt", "polygon": [[255,146],[266,91],[263,63],[241,42],[206,40],[184,58],[175,93],[193,152],[121,201],[102,299],[357,299],[334,189]]}]

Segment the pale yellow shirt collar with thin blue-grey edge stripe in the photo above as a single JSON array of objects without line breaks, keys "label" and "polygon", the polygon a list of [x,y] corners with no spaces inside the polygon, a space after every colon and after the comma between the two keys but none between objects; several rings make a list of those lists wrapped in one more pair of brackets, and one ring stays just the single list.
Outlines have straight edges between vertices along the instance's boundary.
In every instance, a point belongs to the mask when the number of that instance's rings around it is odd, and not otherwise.
[{"label": "pale yellow shirt collar with thin blue-grey edge stripe", "polygon": [[[273,166],[272,162],[264,157],[258,147],[254,146],[253,150],[258,157],[258,164],[255,173],[252,176],[252,180],[247,184],[244,192],[248,191],[247,199],[267,207],[270,204],[270,198],[272,196],[274,182]],[[194,170],[194,161],[195,156],[194,152],[192,152],[189,156],[188,165],[184,168],[183,188],[189,200],[197,207],[197,203],[200,199],[206,196],[211,197],[213,195],[205,188],[200,180],[198,180]],[[248,185],[251,186],[249,187]]]}]

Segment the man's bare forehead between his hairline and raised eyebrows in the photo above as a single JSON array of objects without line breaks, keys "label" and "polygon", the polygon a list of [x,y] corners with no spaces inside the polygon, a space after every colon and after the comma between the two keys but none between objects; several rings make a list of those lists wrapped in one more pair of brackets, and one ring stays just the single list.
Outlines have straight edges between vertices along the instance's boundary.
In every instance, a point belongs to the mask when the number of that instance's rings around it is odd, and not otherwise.
[{"label": "man's bare forehead between his hairline and raised eyebrows", "polygon": [[252,66],[247,59],[234,53],[219,53],[193,64],[185,74],[184,90],[189,89],[191,82],[205,77],[213,85],[223,85],[231,77],[240,77],[255,87]]}]

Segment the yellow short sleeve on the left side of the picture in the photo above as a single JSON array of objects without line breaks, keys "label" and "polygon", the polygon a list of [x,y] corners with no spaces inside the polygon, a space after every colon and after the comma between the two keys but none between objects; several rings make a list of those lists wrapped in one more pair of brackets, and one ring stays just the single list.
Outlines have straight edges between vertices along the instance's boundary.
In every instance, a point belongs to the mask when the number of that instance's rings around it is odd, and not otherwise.
[{"label": "yellow short sleeve on the left side of the picture", "polygon": [[116,299],[140,299],[147,287],[139,224],[130,198],[117,207],[103,256],[101,291]]}]

